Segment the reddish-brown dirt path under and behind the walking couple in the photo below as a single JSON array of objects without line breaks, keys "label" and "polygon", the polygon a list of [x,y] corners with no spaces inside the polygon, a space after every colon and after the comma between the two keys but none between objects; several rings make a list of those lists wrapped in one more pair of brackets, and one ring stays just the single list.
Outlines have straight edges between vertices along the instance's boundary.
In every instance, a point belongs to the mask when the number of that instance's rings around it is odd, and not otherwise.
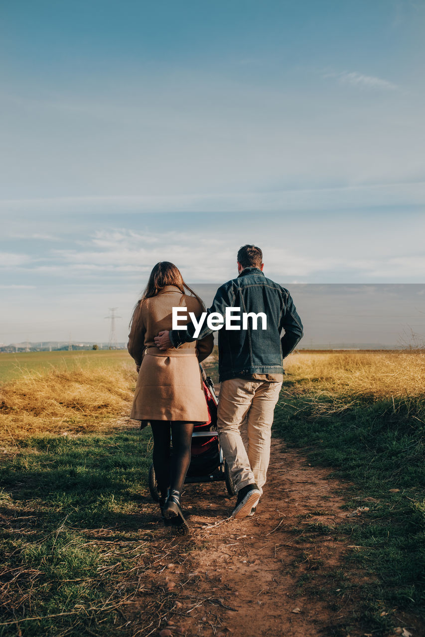
[{"label": "reddish-brown dirt path under and behind the walking couple", "polygon": [[[221,482],[186,485],[188,538],[161,528],[158,505],[147,503],[155,559],[146,564],[134,637],[163,629],[168,637],[338,634],[338,626],[347,623],[351,593],[329,597],[327,589],[335,590],[332,573],[343,568],[342,554],[353,550],[349,540],[334,539],[334,528],[347,519],[336,495],[341,488],[329,471],[309,466],[273,440],[254,517],[227,520],[235,498]],[[364,629],[350,634],[362,635]]]}]

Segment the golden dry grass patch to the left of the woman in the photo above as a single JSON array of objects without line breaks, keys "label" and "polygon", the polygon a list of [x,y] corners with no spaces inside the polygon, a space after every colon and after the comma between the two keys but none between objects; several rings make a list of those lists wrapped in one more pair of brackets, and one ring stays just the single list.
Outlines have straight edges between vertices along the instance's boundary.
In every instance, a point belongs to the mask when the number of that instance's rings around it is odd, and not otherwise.
[{"label": "golden dry grass patch to the left of the woman", "polygon": [[134,386],[125,365],[27,373],[0,388],[0,438],[99,431],[129,408]]}]

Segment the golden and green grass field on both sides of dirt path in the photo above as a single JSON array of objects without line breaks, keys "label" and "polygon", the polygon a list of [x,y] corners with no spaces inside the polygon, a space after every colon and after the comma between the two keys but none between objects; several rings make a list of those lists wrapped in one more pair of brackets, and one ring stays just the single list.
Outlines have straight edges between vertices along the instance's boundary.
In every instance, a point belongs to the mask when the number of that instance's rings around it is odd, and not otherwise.
[{"label": "golden and green grass field on both sides of dirt path", "polygon": [[[151,441],[149,430],[116,422],[135,385],[126,353],[112,353],[117,364],[84,354],[82,364],[25,372],[1,388],[2,636],[133,634],[126,609],[140,596],[153,533],[142,513]],[[424,629],[424,365],[423,350],[287,361],[274,434],[347,481],[347,508],[368,508],[309,528],[318,543],[336,534],[357,547],[327,589],[314,571],[299,582],[302,594],[341,598],[348,619],[338,635],[365,618],[374,637],[390,634],[394,613],[418,626],[414,637]]]}]

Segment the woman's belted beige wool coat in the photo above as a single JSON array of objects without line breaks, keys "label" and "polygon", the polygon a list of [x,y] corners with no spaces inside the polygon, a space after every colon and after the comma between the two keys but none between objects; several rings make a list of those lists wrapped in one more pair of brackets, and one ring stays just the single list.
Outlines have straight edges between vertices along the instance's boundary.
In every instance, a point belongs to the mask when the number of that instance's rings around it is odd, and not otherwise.
[{"label": "woman's belted beige wool coat", "polygon": [[[172,329],[172,308],[188,308],[198,317],[199,301],[174,285],[165,286],[157,296],[137,306],[131,320],[128,351],[137,365],[135,397],[130,418],[135,420],[208,420],[200,361],[211,354],[213,335],[200,341],[184,343],[178,349],[161,351],[154,337],[161,330]],[[183,321],[180,320],[180,324]]]}]

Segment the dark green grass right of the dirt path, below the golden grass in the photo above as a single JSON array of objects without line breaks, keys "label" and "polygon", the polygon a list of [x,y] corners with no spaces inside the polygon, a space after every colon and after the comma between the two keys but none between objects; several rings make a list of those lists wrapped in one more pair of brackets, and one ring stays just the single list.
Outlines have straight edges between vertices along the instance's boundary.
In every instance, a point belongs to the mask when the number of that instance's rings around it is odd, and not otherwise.
[{"label": "dark green grass right of the dirt path, below the golden grass", "polygon": [[311,464],[327,466],[331,476],[347,481],[347,509],[369,508],[334,529],[307,524],[310,540],[332,532],[362,547],[348,550],[343,564],[348,580],[355,582],[359,572],[367,575],[367,583],[354,585],[352,625],[367,620],[374,634],[385,634],[394,622],[400,625],[395,608],[420,621],[425,612],[425,399],[373,402],[357,396],[354,404],[331,413],[336,398],[342,406],[348,399],[329,397],[327,412],[326,396],[320,396],[317,415],[317,392],[288,398],[293,382],[288,378],[283,385],[274,434],[302,448]]}]

